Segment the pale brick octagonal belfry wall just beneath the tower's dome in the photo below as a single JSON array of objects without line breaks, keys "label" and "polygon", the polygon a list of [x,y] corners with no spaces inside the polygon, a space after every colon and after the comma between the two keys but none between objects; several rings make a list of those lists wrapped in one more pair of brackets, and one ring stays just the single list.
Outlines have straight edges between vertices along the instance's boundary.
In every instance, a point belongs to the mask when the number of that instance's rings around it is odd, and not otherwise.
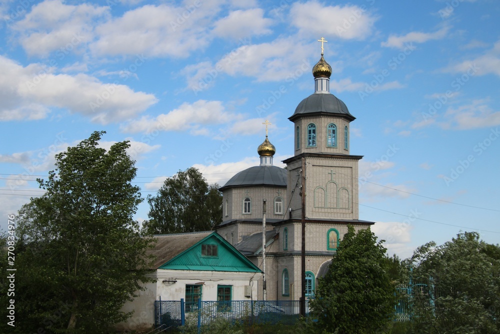
[{"label": "pale brick octagonal belfry wall just beneath the tower's dome", "polygon": [[[307,127],[309,124],[316,126],[316,146],[307,147]],[[336,126],[336,147],[327,147],[326,127],[333,123]],[[297,149],[297,126],[300,127],[300,148]],[[335,153],[349,154],[349,143],[345,149],[344,128],[347,126],[347,141],[349,140],[349,122],[342,117],[335,116],[302,116],[294,122],[294,147],[295,155],[301,153]]]}]

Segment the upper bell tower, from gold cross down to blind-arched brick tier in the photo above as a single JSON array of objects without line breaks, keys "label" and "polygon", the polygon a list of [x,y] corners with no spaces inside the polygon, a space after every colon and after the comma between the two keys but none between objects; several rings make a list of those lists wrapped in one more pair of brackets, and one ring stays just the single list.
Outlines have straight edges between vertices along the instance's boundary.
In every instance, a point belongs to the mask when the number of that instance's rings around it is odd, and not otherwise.
[{"label": "upper bell tower, from gold cross down to blind-arched brick tier", "polygon": [[[358,160],[349,154],[349,124],[355,120],[347,106],[329,92],[331,67],[321,57],[312,68],[314,93],[303,99],[288,119],[293,122],[294,156],[284,160],[288,170],[291,218],[301,216],[300,196],[292,196],[305,160],[307,219],[358,219]],[[300,189],[300,191],[303,191]]]}]

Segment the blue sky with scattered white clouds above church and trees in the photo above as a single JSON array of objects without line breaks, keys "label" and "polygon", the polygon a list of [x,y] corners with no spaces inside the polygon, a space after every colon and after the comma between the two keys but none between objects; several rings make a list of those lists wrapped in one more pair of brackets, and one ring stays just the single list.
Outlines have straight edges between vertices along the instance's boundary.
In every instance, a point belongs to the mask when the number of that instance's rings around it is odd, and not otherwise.
[{"label": "blue sky with scattered white clouds above church and trees", "polygon": [[223,185],[257,165],[266,119],[282,165],[324,37],[357,118],[359,218],[401,257],[459,231],[497,243],[498,16],[494,0],[3,0],[0,226],[96,130],[131,142],[143,197],[191,166]]}]

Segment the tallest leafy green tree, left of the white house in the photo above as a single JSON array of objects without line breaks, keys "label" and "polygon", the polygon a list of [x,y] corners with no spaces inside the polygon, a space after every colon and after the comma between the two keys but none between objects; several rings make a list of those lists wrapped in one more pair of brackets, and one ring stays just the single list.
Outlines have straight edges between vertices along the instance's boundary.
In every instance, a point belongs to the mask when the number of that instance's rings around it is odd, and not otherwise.
[{"label": "tallest leafy green tree, left of the white house", "polygon": [[128,142],[98,147],[105,132],[55,156],[46,192],[19,210],[16,330],[100,333],[147,281],[147,246],[132,219],[141,202]]}]

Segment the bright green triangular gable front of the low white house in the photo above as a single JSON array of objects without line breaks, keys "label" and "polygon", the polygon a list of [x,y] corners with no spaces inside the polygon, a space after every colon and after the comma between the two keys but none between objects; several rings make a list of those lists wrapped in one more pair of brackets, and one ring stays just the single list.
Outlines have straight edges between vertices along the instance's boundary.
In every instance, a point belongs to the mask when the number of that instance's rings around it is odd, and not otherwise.
[{"label": "bright green triangular gable front of the low white house", "polygon": [[[178,234],[178,238],[182,238],[183,234]],[[217,256],[201,255],[201,245],[217,245]],[[189,248],[180,251],[158,268],[174,270],[261,272],[257,266],[216,232],[208,234]]]}]

